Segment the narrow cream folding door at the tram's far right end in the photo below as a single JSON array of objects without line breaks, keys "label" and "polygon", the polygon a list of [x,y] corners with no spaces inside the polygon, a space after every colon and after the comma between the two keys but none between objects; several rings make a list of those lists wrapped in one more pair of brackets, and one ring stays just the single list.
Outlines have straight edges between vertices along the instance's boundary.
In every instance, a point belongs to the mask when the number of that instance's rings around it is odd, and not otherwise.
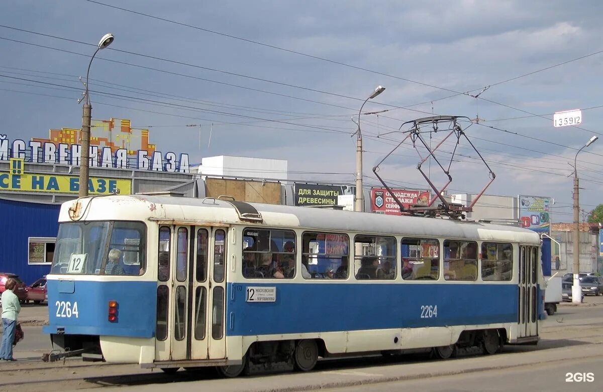
[{"label": "narrow cream folding door at the tram's far right end", "polygon": [[538,335],[538,247],[519,250],[519,323],[518,337]]}]

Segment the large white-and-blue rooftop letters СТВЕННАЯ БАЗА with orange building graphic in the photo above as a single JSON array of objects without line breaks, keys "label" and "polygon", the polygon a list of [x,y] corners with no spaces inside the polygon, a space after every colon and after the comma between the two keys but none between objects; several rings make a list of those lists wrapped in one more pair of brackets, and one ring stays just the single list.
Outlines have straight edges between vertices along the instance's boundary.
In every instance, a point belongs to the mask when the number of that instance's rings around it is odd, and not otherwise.
[{"label": "large white-and-blue rooftop letters \u0421\u0422\u0412\u0415\u041d\u041d\u0410\u042f \u0411\u0410\u0417\u0410 with orange building graphic", "polygon": [[[119,123],[119,126],[116,124]],[[24,159],[36,164],[79,166],[81,129],[51,129],[48,139],[31,141],[0,135],[0,161]],[[188,154],[162,153],[150,144],[148,129],[130,127],[130,120],[93,120],[90,127],[90,167],[190,173]]]}]

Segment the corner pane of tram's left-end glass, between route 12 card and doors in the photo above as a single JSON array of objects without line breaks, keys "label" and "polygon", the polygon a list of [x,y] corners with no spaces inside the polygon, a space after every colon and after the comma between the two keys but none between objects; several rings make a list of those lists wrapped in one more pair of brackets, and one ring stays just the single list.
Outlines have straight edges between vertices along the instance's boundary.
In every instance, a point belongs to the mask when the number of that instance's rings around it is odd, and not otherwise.
[{"label": "corner pane of tram's left-end glass, between route 12 card and doors", "polygon": [[[105,275],[142,275],[147,253],[147,227],[142,222],[113,223]],[[116,250],[115,252],[112,252]],[[117,252],[119,251],[119,252]],[[112,259],[118,255],[117,259]],[[112,262],[114,261],[114,263]]]}]

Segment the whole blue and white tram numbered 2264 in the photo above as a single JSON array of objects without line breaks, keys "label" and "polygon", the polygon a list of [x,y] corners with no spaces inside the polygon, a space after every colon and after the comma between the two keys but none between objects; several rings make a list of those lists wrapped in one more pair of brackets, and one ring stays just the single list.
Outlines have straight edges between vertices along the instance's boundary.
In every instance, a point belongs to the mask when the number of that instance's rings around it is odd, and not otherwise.
[{"label": "whole blue and white tram numbered 2264", "polygon": [[236,201],[63,204],[55,349],[175,371],[538,341],[540,239],[516,227]]}]

